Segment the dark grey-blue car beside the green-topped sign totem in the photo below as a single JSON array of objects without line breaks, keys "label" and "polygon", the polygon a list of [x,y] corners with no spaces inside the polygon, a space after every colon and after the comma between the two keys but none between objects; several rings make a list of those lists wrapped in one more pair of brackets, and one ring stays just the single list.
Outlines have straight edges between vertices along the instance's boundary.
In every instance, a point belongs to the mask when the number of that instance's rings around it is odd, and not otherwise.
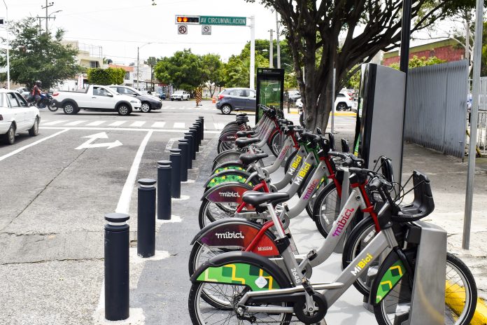
[{"label": "dark grey-blue car beside the green-topped sign totem", "polygon": [[227,88],[218,94],[216,108],[227,115],[232,111],[255,111],[255,90]]}]

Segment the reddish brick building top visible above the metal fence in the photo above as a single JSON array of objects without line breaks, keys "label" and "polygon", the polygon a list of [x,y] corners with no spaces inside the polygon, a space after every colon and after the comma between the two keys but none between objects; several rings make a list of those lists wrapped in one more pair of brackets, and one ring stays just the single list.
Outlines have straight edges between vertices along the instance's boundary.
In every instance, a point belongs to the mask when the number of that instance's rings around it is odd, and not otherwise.
[{"label": "reddish brick building top visible above the metal fence", "polygon": [[[453,39],[445,39],[421,46],[414,46],[409,49],[409,59],[412,57],[437,57],[446,62],[458,61],[465,59],[465,48]],[[399,50],[384,53],[383,65],[399,64]]]}]

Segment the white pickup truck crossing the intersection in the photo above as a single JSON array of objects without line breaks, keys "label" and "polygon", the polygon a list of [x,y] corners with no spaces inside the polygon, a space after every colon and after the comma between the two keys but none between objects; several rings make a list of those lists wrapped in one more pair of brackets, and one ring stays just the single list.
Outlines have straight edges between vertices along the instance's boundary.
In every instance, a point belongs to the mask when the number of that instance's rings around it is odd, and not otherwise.
[{"label": "white pickup truck crossing the intersection", "polygon": [[76,114],[81,109],[117,111],[129,115],[141,108],[141,101],[132,96],[120,95],[104,85],[90,85],[85,91],[57,91],[52,94],[53,103],[62,107],[65,114]]}]

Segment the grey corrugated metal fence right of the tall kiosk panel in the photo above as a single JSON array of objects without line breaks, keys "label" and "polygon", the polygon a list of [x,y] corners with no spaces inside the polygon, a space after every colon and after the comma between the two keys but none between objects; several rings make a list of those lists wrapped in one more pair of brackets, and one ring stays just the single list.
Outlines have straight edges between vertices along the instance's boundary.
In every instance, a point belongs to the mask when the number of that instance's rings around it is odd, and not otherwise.
[{"label": "grey corrugated metal fence right of the tall kiosk panel", "polygon": [[463,158],[467,61],[411,69],[408,78],[405,139]]}]

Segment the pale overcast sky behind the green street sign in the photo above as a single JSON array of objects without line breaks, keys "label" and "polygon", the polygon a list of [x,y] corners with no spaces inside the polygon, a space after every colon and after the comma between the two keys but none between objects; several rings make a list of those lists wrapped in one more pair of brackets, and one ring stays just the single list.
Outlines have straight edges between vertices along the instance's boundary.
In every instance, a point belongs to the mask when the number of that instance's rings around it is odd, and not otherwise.
[{"label": "pale overcast sky behind the green street sign", "polygon": [[[45,16],[45,9],[41,9],[45,0],[5,1],[8,20]],[[227,60],[250,41],[249,27],[213,26],[211,36],[206,36],[202,35],[201,26],[190,25],[187,35],[178,35],[176,15],[255,15],[256,39],[269,39],[269,29],[276,30],[275,13],[244,0],[155,0],[157,6],[152,6],[152,0],[49,0],[52,1],[49,13],[61,12],[51,15],[56,19],[49,20],[50,30],[62,28],[66,30],[66,40],[102,46],[104,57],[121,64],[136,61],[137,46],[141,47],[141,60],[171,56],[184,48],[197,54],[217,53]],[[5,6],[0,1],[1,16],[5,16]],[[149,42],[152,43],[146,44]]]}]

